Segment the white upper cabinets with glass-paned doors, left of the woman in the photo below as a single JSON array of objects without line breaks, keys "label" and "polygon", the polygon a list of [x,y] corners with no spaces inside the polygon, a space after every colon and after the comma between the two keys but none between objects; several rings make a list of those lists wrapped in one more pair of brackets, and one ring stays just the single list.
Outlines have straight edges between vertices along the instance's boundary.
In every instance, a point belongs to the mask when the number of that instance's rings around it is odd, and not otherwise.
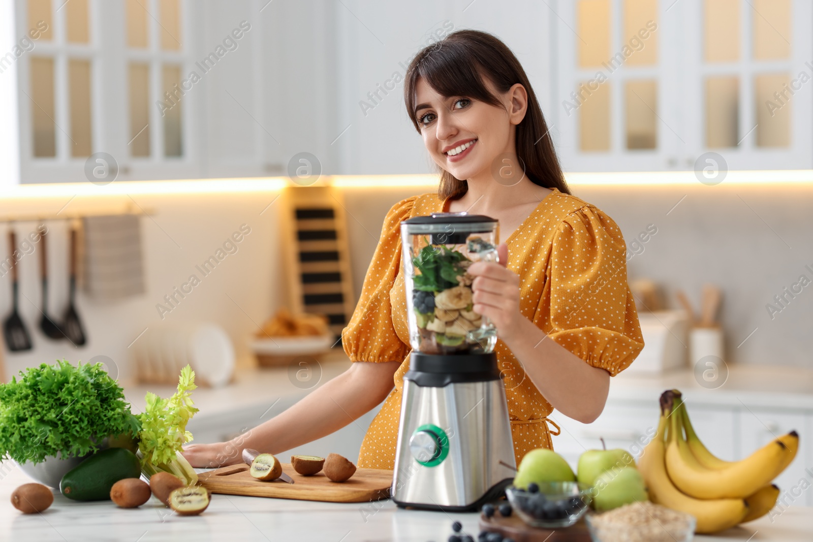
[{"label": "white upper cabinets with glass-paned doors, left of the woman", "polygon": [[333,8],[320,5],[15,0],[15,36],[37,31],[2,66],[16,75],[19,133],[2,137],[19,143],[20,182],[90,180],[96,153],[116,180],[280,175],[302,151],[331,163]]}]

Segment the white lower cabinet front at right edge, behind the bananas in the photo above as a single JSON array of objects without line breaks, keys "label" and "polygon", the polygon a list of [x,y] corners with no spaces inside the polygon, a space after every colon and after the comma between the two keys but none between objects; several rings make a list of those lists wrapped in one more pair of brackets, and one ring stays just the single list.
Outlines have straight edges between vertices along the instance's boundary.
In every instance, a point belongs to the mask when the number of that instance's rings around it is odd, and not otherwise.
[{"label": "white lower cabinet front at right edge, behind the bananas", "polygon": [[[813,466],[813,447],[811,447],[811,426],[813,415],[802,411],[767,410],[755,407],[744,407],[739,411],[742,428],[742,445],[737,459],[749,456],[776,436],[785,435],[794,429],[799,433],[799,451],[796,458],[785,471],[776,478],[776,485],[782,491],[781,498],[787,499],[787,505],[813,505],[813,488],[800,481],[806,479],[813,483],[806,468]],[[797,489],[790,492],[794,487]],[[785,492],[788,492],[787,494]],[[795,496],[794,496],[795,493]]]}]

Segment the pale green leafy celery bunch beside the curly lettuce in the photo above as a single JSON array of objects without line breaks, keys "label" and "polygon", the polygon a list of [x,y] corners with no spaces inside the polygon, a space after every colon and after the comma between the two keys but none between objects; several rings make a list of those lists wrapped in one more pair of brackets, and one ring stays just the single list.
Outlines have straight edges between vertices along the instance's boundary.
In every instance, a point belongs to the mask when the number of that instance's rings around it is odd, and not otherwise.
[{"label": "pale green leafy celery bunch beside the curly lettuce", "polygon": [[195,372],[187,365],[180,371],[178,391],[169,399],[152,392],[146,394],[146,408],[138,414],[141,432],[138,434],[138,456],[141,472],[149,478],[161,471],[176,475],[191,485],[198,482],[192,466],[180,454],[183,445],[192,440],[186,423],[198,412],[189,392],[195,385]]}]

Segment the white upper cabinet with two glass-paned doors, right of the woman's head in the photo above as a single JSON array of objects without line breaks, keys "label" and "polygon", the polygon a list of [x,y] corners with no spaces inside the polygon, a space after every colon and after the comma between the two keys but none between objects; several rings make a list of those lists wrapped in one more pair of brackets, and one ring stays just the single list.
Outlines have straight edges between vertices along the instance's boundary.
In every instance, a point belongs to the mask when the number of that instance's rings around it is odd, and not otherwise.
[{"label": "white upper cabinet with two glass-paned doors, right of the woman's head", "polygon": [[811,2],[564,0],[551,9],[550,115],[567,171],[709,167],[715,184],[723,169],[813,165]]}]

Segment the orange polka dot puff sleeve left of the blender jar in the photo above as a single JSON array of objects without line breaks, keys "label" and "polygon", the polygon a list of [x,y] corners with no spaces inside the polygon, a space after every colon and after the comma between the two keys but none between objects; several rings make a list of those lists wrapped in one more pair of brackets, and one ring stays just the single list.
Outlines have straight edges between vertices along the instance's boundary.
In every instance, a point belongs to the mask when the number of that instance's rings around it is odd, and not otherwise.
[{"label": "orange polka dot puff sleeve left of the blender jar", "polygon": [[401,221],[409,218],[415,198],[396,203],[385,216],[359,303],[341,331],[342,347],[351,362],[400,362],[410,350],[393,327],[389,290],[401,270]]}]

